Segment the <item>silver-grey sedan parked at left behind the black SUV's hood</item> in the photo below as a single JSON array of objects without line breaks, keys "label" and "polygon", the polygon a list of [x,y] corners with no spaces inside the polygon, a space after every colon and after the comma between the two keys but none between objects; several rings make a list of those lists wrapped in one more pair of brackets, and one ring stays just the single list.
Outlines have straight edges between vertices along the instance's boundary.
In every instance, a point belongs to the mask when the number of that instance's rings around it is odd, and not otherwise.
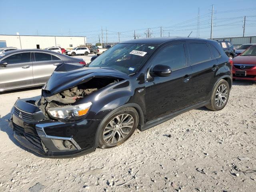
[{"label": "silver-grey sedan parked at left behind the black SUV's hood", "polygon": [[59,64],[83,67],[80,58],[72,58],[48,50],[15,50],[0,54],[0,92],[40,86],[47,82]]}]

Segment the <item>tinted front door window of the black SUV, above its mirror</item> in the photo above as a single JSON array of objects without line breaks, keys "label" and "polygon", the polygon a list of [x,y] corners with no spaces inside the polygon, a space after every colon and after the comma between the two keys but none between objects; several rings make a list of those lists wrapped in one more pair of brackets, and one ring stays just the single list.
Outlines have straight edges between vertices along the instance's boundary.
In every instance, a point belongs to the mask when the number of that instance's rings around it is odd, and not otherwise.
[{"label": "tinted front door window of the black SUV, above its mirror", "polygon": [[176,44],[164,47],[153,58],[154,65],[168,65],[171,70],[177,70],[186,67],[186,55],[183,44]]}]

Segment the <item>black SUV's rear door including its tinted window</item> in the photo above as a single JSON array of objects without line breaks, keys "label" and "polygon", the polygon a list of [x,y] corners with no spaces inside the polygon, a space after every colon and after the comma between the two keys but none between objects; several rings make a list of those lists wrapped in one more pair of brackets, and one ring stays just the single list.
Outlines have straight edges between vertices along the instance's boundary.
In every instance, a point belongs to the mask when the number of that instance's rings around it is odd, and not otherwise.
[{"label": "black SUV's rear door including its tinted window", "polygon": [[194,90],[193,104],[208,100],[218,79],[218,59],[212,54],[206,42],[188,42]]}]

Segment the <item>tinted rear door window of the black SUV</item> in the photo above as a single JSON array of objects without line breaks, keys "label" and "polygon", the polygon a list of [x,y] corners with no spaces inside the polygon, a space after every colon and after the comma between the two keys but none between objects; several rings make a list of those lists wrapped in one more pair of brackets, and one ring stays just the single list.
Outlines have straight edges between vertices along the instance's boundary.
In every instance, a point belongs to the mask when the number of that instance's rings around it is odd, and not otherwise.
[{"label": "tinted rear door window of the black SUV", "polygon": [[191,65],[202,63],[212,59],[212,55],[205,43],[188,44]]}]

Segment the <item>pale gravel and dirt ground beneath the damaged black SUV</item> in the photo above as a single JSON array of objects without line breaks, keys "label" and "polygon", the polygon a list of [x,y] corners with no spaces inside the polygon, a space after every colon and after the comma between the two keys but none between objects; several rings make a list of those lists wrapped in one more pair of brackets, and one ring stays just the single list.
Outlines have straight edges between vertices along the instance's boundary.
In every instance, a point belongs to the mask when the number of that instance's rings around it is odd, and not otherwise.
[{"label": "pale gravel and dirt ground beneath the damaged black SUV", "polygon": [[40,92],[0,94],[0,191],[256,191],[255,82],[235,81],[222,111],[192,110],[136,130],[121,146],[73,159],[35,156],[8,128],[17,97],[35,99]]}]

